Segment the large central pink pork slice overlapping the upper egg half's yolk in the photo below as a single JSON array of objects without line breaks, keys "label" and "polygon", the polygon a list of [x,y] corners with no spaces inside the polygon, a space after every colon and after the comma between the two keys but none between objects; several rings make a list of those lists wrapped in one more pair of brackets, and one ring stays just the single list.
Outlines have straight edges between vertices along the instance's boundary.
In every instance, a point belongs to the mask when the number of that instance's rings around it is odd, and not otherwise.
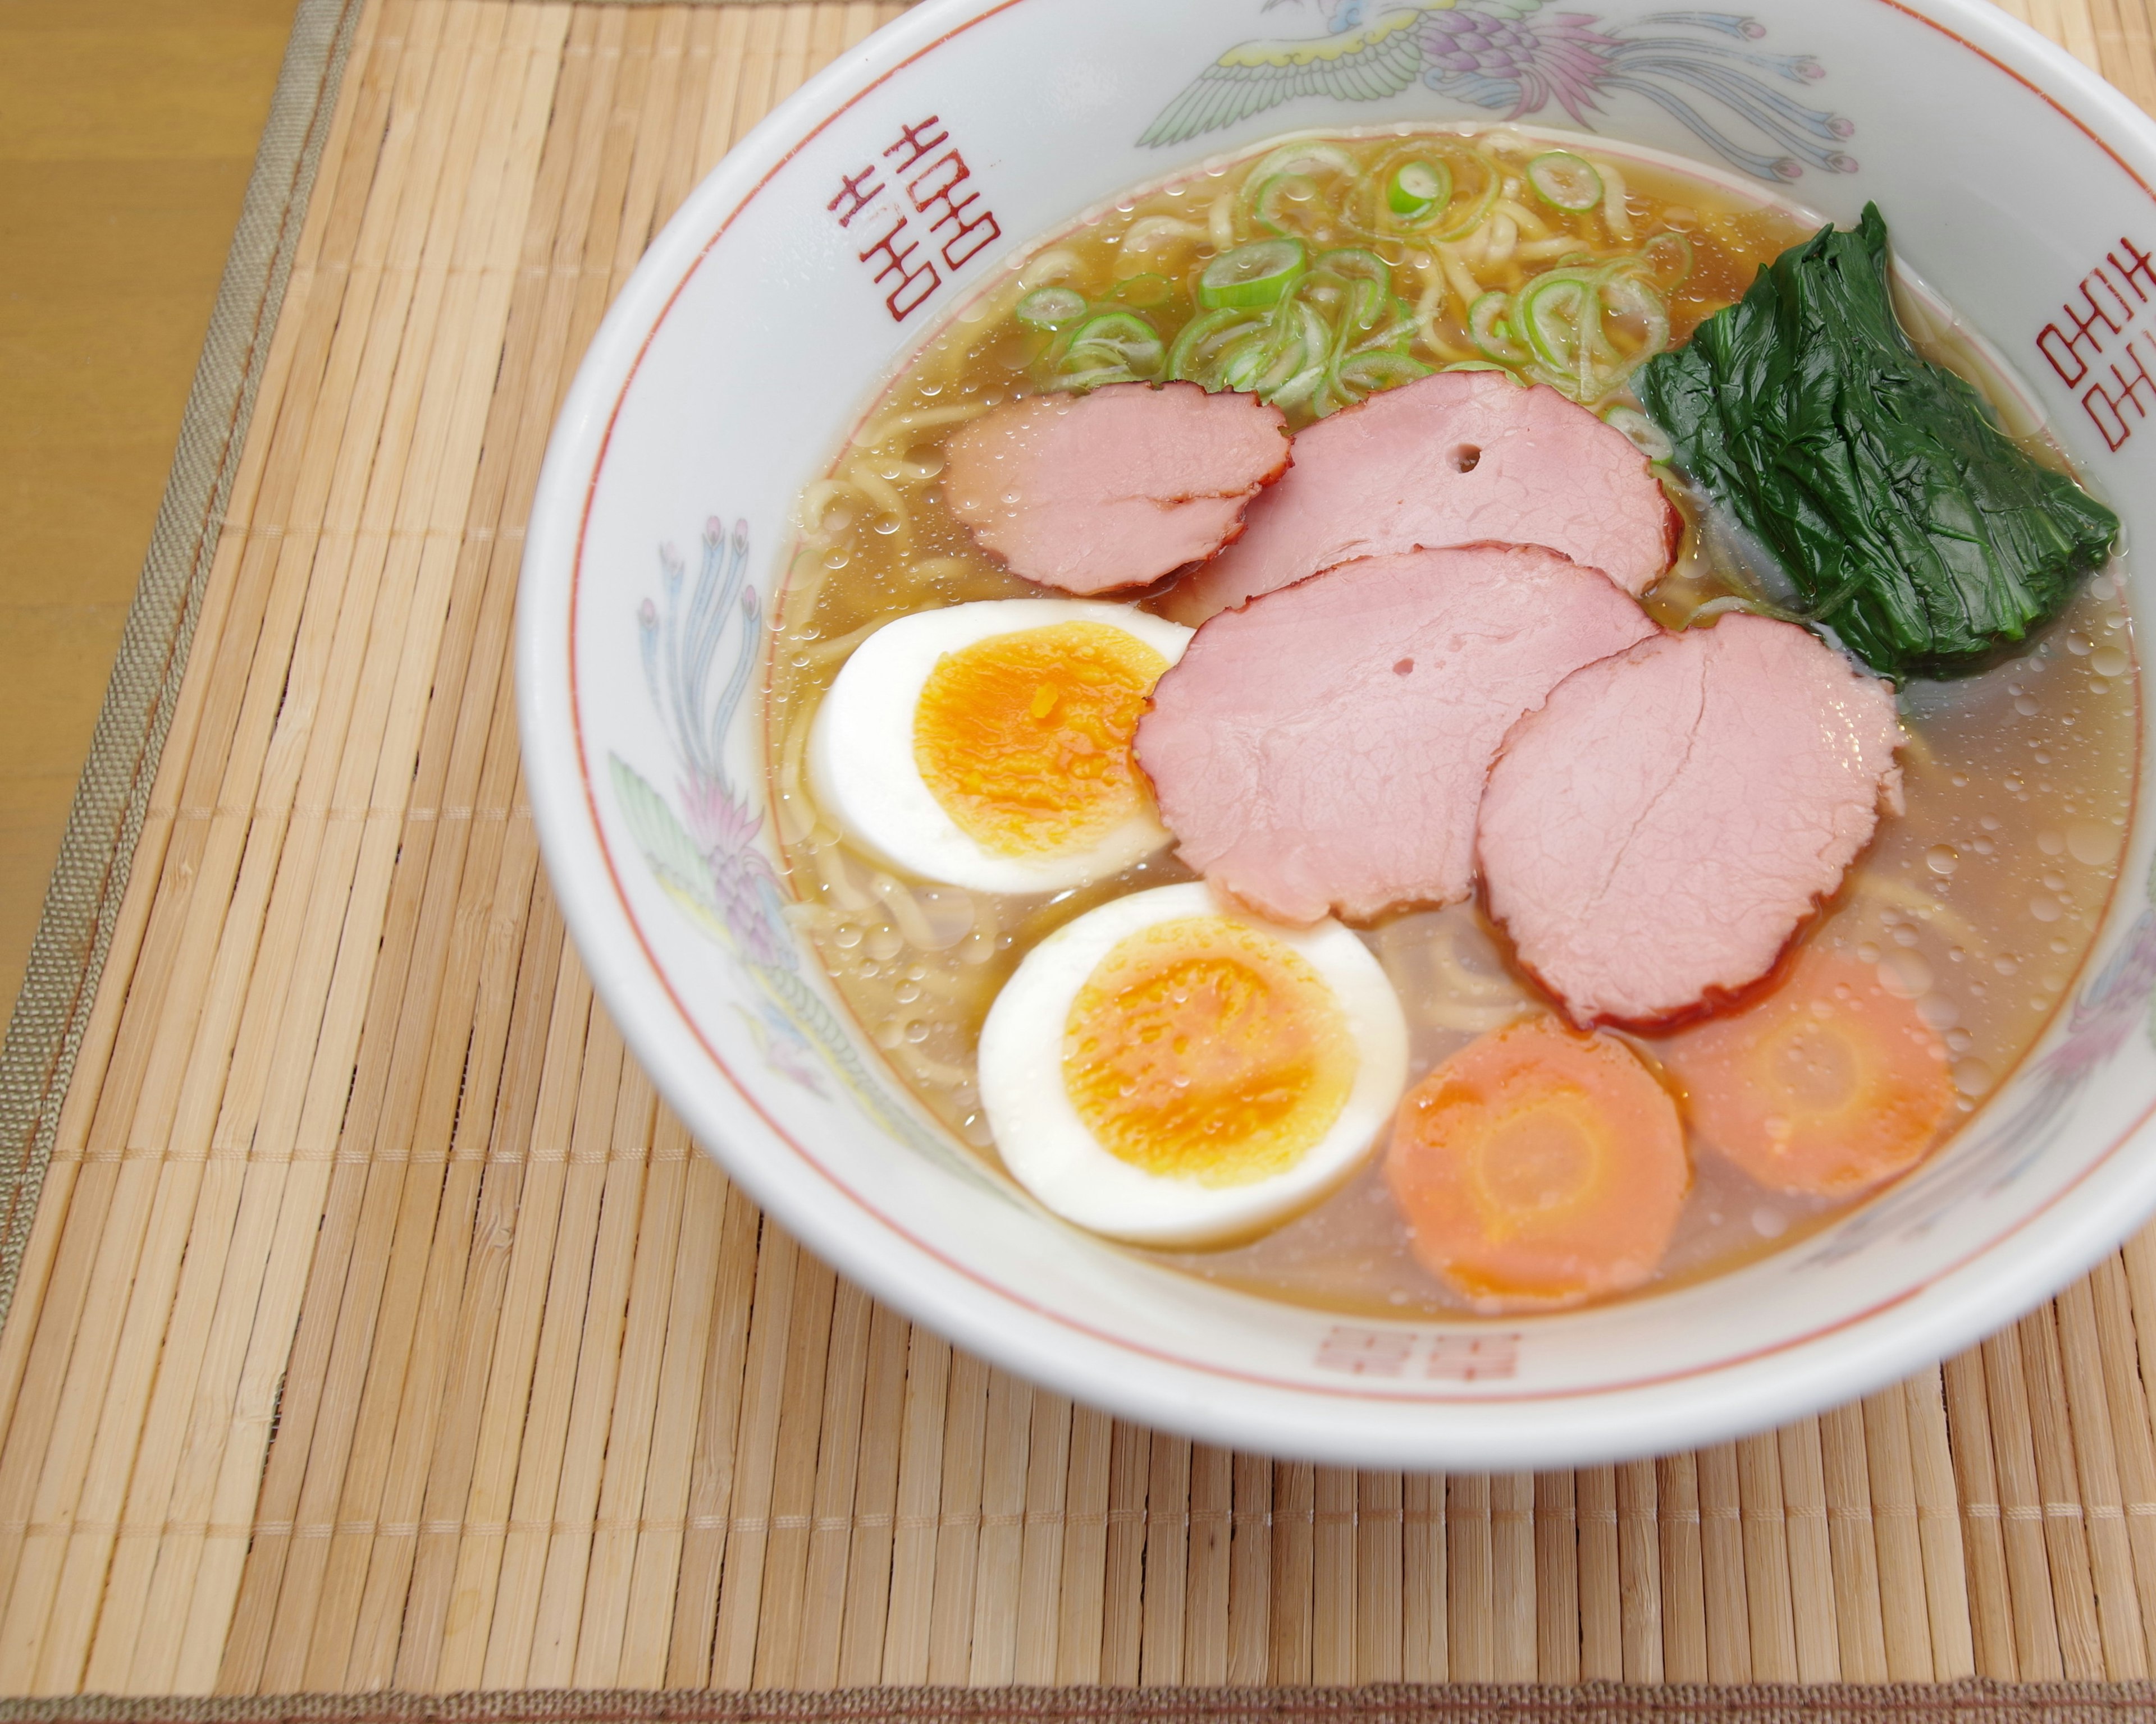
[{"label": "large central pink pork slice overlapping the upper egg half's yolk", "polygon": [[1514,720],[1651,634],[1537,547],[1348,562],[1205,623],[1153,687],[1138,765],[1184,862],[1266,916],[1453,903]]}]

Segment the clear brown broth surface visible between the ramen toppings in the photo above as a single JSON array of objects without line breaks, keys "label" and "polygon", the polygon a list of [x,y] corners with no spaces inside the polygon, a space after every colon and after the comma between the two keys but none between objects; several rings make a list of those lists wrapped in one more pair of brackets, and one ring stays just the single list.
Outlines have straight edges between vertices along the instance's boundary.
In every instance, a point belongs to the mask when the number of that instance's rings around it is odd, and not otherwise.
[{"label": "clear brown broth surface visible between the ramen toppings", "polygon": [[[1520,134],[1483,136],[1503,149]],[[1337,142],[1376,151],[1397,136]],[[1134,224],[1153,215],[1201,224],[1259,153],[1119,198],[1033,248],[1007,282],[966,306],[890,381],[865,433],[802,500],[768,685],[774,806],[798,896],[793,914],[899,1080],[992,1164],[972,1049],[1003,981],[1035,942],[1074,916],[1192,873],[1160,853],[1112,879],[1037,899],[895,879],[849,845],[806,793],[800,756],[808,720],[847,651],[882,623],[975,599],[1037,595],[983,556],[944,509],[936,487],[940,437],[962,418],[1037,392],[1031,364],[1039,338],[1009,315],[1026,287],[1056,280],[1089,297],[1106,295],[1136,272],[1119,250]],[[1501,159],[1509,166],[1509,157]],[[1636,237],[1680,228],[1695,246],[1692,274],[1671,295],[1673,340],[1740,297],[1761,263],[1811,231],[1789,211],[1744,205],[1703,181],[1636,164],[1621,172]],[[1617,246],[1600,211],[1576,222],[1583,246]],[[1235,244],[1246,237],[1238,233]],[[1164,308],[1169,328],[1188,315],[1188,282],[1210,254],[1203,241],[1179,241],[1171,256],[1145,254],[1149,274],[1177,282],[1179,297]],[[1414,276],[1414,256],[1388,261],[1399,276]],[[1514,289],[1535,267],[1526,261],[1488,269],[1481,284]],[[1425,263],[1419,278],[1438,274]],[[1434,304],[1440,295],[1445,302]],[[1432,345],[1419,345],[1416,358],[1442,362],[1449,345],[1466,345],[1457,300],[1442,289],[1423,293]],[[1936,310],[1906,310],[1932,358],[1971,377],[2035,453],[2057,459],[2024,399],[1986,371],[1975,343]],[[897,431],[884,435],[890,427]],[[1671,627],[1740,590],[1729,554],[1701,532],[1697,511],[1686,513],[1692,524],[1680,562],[1647,599]],[[2115,578],[2085,584],[2057,625],[1984,675],[1912,683],[1902,715],[1910,735],[1902,752],[1906,812],[1882,821],[1807,937],[1876,963],[1891,989],[1917,1000],[1953,1058],[1960,1123],[2024,1058],[2065,1000],[2117,879],[2137,769],[2139,675]],[[1414,1078],[1475,1034],[1544,1004],[1473,903],[1393,916],[1360,933],[1408,1013]],[[1654,1039],[1630,1041],[1654,1058]],[[1708,1151],[1692,1162],[1692,1194],[1647,1291],[1787,1248],[1852,1207],[1768,1192]],[[1376,1162],[1253,1243],[1149,1256],[1326,1310],[1466,1315],[1408,1250]]]}]

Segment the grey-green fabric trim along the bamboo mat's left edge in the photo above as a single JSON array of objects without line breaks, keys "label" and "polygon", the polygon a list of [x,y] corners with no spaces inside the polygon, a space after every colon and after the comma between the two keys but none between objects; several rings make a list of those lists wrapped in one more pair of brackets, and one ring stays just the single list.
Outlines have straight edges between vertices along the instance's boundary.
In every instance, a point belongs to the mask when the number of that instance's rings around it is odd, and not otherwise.
[{"label": "grey-green fabric trim along the bamboo mat's left edge", "polygon": [[172,470],[0,1045],[0,1323],[15,1299],[60,1103],[134,871],[362,4],[300,0],[293,17]]}]

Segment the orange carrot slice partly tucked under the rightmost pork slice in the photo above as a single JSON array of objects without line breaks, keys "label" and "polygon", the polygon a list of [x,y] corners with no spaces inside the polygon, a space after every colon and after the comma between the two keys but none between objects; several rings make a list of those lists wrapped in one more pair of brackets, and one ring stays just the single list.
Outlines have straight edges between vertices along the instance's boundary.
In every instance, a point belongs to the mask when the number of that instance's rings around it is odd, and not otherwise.
[{"label": "orange carrot slice partly tucked under the rightmost pork slice", "polygon": [[1699,1140],[1777,1192],[1841,1198],[1923,1159],[1953,1073],[1869,963],[1805,950],[1764,1002],[1664,1043]]}]

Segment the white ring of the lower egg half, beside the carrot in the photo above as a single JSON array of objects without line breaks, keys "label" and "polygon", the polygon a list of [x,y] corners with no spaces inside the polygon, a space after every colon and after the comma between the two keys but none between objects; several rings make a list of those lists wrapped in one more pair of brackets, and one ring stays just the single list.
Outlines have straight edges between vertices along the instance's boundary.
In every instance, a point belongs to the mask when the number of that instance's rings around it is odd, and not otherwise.
[{"label": "white ring of the lower egg half, beside the carrot", "polygon": [[[1248,1185],[1151,1174],[1110,1155],[1063,1086],[1063,1028],[1100,961],[1156,922],[1220,916],[1298,953],[1332,989],[1356,1049],[1356,1075],[1332,1129],[1296,1164]],[[1408,1082],[1408,1024],[1378,959],[1339,922],[1285,929],[1203,881],[1132,892],[1080,916],[1026,953],[981,1028],[981,1106],[996,1151],[1056,1215],[1136,1246],[1216,1246],[1309,1209],[1369,1159]]]}]

